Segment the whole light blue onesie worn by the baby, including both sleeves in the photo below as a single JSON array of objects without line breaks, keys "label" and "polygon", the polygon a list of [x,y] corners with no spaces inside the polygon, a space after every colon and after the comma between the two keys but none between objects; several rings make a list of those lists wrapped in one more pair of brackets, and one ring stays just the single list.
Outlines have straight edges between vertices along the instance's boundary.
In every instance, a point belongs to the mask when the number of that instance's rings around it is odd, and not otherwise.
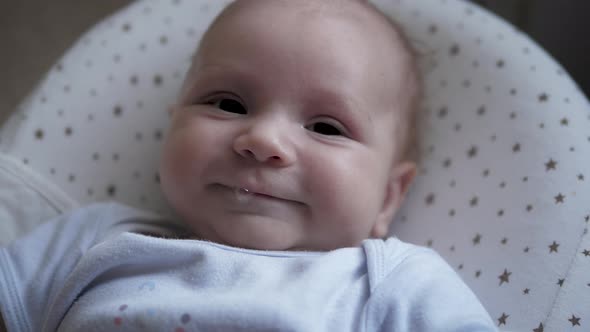
[{"label": "whole light blue onesie worn by the baby, including both sleeves", "polygon": [[390,238],[324,253],[246,250],[173,225],[96,204],[1,249],[8,330],[496,331],[426,248]]}]

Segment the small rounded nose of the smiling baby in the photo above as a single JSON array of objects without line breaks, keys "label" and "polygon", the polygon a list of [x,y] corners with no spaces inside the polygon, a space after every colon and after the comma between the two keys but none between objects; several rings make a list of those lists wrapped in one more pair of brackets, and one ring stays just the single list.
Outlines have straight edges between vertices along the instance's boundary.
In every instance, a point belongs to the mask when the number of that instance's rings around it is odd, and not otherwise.
[{"label": "small rounded nose of the smiling baby", "polygon": [[285,126],[258,121],[236,137],[233,148],[244,158],[285,167],[295,160],[293,146],[286,136]]}]

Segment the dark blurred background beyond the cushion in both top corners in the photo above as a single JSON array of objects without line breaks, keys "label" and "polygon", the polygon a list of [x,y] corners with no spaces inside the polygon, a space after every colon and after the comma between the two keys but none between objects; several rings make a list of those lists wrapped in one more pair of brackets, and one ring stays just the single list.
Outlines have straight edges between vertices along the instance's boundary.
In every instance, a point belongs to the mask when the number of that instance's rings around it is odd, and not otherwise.
[{"label": "dark blurred background beyond the cushion in both top corners", "polygon": [[[590,0],[472,1],[532,36],[590,95]],[[0,0],[0,122],[84,31],[130,2]]]}]

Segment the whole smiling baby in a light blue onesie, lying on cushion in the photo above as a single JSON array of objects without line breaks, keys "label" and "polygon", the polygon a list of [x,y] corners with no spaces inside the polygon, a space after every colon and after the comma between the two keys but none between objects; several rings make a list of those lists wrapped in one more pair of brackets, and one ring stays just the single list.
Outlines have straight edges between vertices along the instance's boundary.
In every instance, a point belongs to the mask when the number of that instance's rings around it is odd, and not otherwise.
[{"label": "whole smiling baby in a light blue onesie, lying on cushion", "polygon": [[238,0],[205,33],[160,167],[182,226],[118,204],[0,251],[9,331],[495,331],[387,236],[416,174],[401,31],[360,0]]}]

